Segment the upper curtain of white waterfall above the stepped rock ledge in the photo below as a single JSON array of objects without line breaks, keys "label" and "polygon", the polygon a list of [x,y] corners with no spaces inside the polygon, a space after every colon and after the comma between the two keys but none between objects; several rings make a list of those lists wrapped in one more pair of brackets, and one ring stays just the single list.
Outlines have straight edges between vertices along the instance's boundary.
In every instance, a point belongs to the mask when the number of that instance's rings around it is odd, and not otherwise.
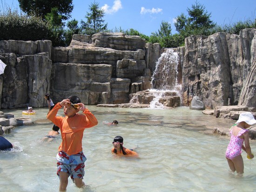
[{"label": "upper curtain of white waterfall above the stepped rock ledge", "polygon": [[152,76],[152,89],[174,90],[178,85],[179,55],[173,49],[167,49],[156,62]]}]

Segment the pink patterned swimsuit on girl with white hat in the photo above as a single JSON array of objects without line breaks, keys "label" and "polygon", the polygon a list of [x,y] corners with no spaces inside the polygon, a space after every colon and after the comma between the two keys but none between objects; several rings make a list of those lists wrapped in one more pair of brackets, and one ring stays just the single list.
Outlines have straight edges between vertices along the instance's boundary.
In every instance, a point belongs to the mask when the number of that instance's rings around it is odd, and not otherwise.
[{"label": "pink patterned swimsuit on girl with white hat", "polygon": [[244,139],[239,138],[239,136],[248,131],[246,129],[242,129],[238,132],[237,136],[234,136],[232,135],[232,130],[230,131],[231,138],[226,151],[226,158],[228,159],[234,159],[236,156],[241,155]]}]

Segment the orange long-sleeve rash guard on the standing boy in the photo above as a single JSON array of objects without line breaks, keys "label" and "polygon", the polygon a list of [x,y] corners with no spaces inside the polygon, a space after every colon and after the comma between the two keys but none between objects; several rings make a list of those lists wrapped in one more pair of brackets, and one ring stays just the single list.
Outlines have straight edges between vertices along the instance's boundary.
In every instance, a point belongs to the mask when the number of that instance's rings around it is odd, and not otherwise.
[{"label": "orange long-sleeve rash guard on the standing boy", "polygon": [[82,151],[84,129],[96,126],[98,121],[88,109],[85,109],[83,114],[76,114],[71,118],[56,116],[61,107],[60,103],[57,103],[47,114],[47,119],[60,127],[62,142],[59,151],[74,155]]}]

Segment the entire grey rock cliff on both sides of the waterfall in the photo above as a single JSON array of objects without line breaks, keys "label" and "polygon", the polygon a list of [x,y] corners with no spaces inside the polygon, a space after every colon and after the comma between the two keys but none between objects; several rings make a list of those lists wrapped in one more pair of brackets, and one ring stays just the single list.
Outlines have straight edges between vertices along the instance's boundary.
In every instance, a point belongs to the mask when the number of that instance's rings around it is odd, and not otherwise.
[{"label": "entire grey rock cliff on both sides of the waterfall", "polygon": [[[206,108],[244,105],[256,111],[256,29],[240,35],[190,36],[179,55],[182,104],[197,95]],[[147,90],[160,57],[159,44],[123,33],[74,35],[68,47],[50,41],[0,41],[1,107],[46,106],[75,94],[85,104],[126,103],[129,94]]]}]

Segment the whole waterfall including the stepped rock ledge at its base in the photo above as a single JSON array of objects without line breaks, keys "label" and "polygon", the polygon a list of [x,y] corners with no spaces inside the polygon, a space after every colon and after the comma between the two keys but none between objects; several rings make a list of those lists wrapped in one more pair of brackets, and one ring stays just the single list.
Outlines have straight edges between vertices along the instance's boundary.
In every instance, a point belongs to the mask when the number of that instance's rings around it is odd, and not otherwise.
[{"label": "whole waterfall including the stepped rock ledge at its base", "polygon": [[156,62],[151,87],[133,94],[130,103],[149,104],[149,108],[167,108],[181,105],[181,86],[178,85],[179,55],[166,49]]}]

